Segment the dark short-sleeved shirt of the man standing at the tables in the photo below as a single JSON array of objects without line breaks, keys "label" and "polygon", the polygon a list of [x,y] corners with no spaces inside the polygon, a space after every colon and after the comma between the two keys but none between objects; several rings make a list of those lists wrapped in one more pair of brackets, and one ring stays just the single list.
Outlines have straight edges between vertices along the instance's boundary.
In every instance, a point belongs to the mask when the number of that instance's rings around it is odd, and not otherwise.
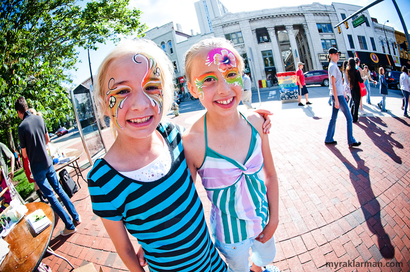
[{"label": "dark short-sleeved shirt of the man standing at the tables", "polygon": [[46,133],[48,131],[43,117],[26,111],[23,122],[18,126],[18,139],[21,148],[26,148],[31,172],[45,170],[52,164],[46,150]]}]

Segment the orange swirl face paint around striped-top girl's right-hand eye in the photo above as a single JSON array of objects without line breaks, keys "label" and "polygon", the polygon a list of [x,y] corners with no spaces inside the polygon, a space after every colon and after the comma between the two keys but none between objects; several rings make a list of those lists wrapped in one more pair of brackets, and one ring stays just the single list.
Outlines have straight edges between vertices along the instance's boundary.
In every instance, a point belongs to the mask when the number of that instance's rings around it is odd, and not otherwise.
[{"label": "orange swirl face paint around striped-top girl's right-hand eye", "polygon": [[147,72],[141,82],[141,88],[144,94],[151,101],[151,105],[158,106],[158,114],[162,116],[163,92],[161,81],[161,70],[157,66],[154,58],[143,54],[136,54],[132,60],[138,64],[146,64]]}]

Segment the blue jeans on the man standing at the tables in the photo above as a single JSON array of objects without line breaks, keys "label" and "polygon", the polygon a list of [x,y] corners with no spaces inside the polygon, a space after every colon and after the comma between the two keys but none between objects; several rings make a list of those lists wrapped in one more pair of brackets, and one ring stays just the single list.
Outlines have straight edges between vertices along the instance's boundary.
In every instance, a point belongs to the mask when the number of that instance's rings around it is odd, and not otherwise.
[{"label": "blue jeans on the man standing at the tables", "polygon": [[49,168],[46,168],[42,171],[39,171],[37,173],[33,173],[34,180],[40,188],[40,190],[43,192],[44,196],[47,198],[47,200],[50,202],[51,208],[54,210],[54,212],[57,213],[57,215],[63,220],[63,222],[66,224],[66,229],[67,230],[74,230],[74,224],[73,221],[71,220],[70,216],[68,213],[64,210],[63,206],[61,206],[60,202],[57,200],[57,197],[55,197],[54,191],[57,193],[57,195],[60,197],[61,201],[63,201],[64,206],[66,206],[67,211],[70,213],[71,217],[74,220],[79,219],[79,215],[77,211],[74,208],[73,203],[71,202],[70,198],[66,194],[66,192],[63,190],[63,187],[61,187],[60,183],[58,182],[57,174],[55,173],[54,166],[51,165]]}]

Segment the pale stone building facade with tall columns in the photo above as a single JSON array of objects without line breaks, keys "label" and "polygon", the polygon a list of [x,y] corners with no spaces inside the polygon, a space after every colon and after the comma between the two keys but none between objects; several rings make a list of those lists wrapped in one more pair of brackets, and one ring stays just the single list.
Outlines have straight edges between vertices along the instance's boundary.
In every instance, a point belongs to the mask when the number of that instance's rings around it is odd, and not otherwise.
[{"label": "pale stone building facade with tall columns", "polygon": [[[215,37],[226,37],[244,56],[256,79],[269,74],[295,71],[305,63],[305,71],[327,69],[327,50],[347,51],[342,35],[335,33],[339,22],[333,6],[313,3],[251,12],[227,13],[212,20]],[[254,81],[255,82],[255,81]]]}]

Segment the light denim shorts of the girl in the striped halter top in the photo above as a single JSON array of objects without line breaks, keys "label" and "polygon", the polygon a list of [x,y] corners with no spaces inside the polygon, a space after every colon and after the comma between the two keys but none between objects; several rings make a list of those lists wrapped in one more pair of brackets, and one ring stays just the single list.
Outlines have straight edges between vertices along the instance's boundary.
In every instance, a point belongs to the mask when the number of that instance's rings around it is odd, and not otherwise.
[{"label": "light denim shorts of the girl in the striped halter top", "polygon": [[215,240],[215,246],[225,257],[229,272],[249,272],[249,248],[252,248],[251,260],[257,266],[266,266],[273,262],[276,255],[275,238],[272,236],[265,243],[255,238],[235,244],[225,244]]}]

